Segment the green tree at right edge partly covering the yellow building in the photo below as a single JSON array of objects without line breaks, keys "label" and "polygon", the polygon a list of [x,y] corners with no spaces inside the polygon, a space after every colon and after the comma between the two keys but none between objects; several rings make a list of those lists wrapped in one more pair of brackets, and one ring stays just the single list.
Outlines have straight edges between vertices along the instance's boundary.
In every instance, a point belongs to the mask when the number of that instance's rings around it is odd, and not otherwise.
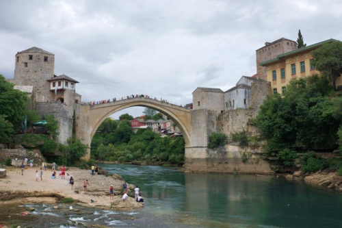
[{"label": "green tree at right edge partly covering the yellow building", "polygon": [[311,52],[318,71],[323,73],[332,86],[342,73],[342,42],[330,42]]}]

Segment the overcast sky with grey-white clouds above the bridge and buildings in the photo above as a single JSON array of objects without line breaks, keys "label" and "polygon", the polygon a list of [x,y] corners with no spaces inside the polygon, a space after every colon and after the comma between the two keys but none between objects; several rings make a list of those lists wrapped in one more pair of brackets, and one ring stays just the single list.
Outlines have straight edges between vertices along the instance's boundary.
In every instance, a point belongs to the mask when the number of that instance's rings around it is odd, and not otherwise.
[{"label": "overcast sky with grey-white clouds above the bridge and buildings", "polygon": [[341,10],[338,0],[1,1],[0,74],[13,78],[16,52],[39,47],[55,54],[56,75],[80,82],[83,101],[149,94],[184,105],[197,87],[225,91],[254,75],[265,42],[297,40],[298,29],[307,45],[341,40]]}]

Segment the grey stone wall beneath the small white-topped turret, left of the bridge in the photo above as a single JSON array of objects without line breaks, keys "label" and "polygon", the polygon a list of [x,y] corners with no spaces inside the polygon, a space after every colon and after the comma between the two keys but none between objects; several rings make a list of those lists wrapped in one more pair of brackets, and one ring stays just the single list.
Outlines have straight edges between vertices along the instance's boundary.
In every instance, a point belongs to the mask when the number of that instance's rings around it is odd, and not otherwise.
[{"label": "grey stone wall beneath the small white-topped turret, left of the bridge", "polygon": [[[73,107],[73,106],[72,106]],[[73,136],[73,111],[62,103],[35,103],[38,116],[53,115],[60,127],[57,129],[57,142],[66,144],[66,140]]]}]

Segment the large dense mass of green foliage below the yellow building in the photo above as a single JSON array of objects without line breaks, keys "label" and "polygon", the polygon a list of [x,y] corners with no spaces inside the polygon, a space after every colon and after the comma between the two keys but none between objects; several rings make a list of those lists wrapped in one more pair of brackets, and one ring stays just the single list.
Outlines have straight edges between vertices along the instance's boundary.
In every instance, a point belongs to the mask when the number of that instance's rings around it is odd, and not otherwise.
[{"label": "large dense mass of green foliage below the yellow building", "polygon": [[336,148],[341,118],[334,109],[333,88],[318,75],[291,80],[285,97],[267,97],[257,116],[257,127],[271,151],[295,142],[308,148]]}]

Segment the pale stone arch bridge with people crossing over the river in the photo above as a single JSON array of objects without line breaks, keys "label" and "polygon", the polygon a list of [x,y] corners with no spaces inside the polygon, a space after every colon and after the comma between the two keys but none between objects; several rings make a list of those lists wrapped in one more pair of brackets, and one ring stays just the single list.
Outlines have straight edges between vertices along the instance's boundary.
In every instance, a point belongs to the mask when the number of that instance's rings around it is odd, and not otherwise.
[{"label": "pale stone arch bridge with people crossing over the river", "polygon": [[[78,105],[75,118],[75,133],[81,138],[83,144],[90,146],[96,129],[111,114],[127,107],[142,106],[157,110],[174,121],[181,129],[185,140],[185,148],[191,144],[191,114],[190,110],[179,105],[173,105],[156,99],[144,97],[125,99],[121,101],[102,103],[98,105]],[[90,148],[88,148],[86,160],[90,159]]]}]

